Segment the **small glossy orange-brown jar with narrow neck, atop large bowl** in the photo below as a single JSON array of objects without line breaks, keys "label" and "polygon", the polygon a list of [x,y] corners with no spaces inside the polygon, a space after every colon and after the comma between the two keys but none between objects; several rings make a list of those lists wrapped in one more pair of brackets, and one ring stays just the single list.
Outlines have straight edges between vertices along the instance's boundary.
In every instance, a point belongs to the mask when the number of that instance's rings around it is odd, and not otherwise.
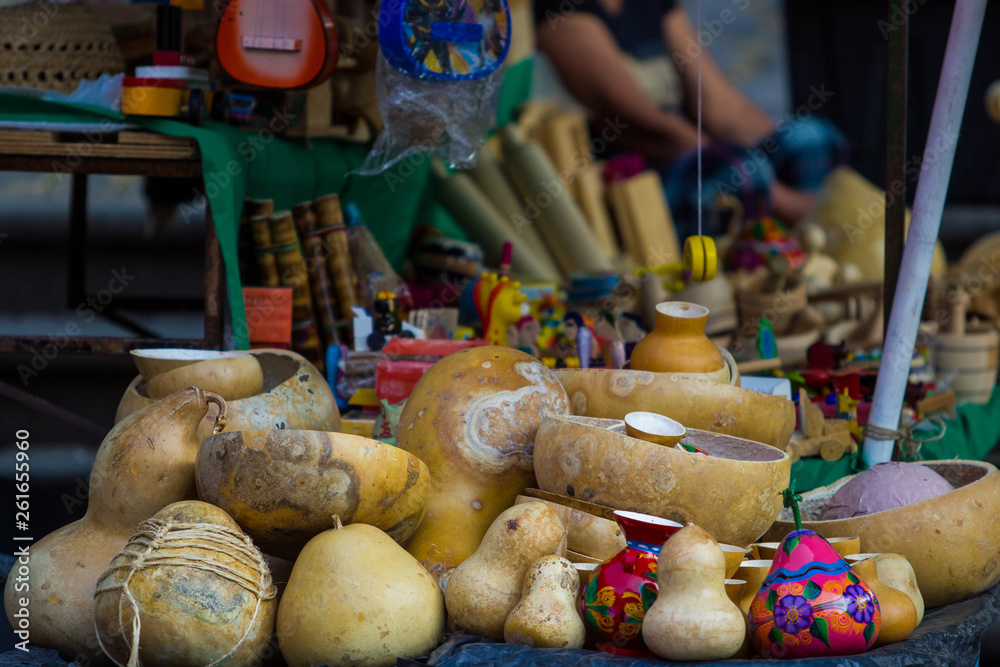
[{"label": "small glossy orange-brown jar with narrow neck, atop large bowl", "polygon": [[708,308],[685,301],[656,306],[656,325],[635,345],[629,367],[654,373],[714,373],[726,368],[708,336]]}]

